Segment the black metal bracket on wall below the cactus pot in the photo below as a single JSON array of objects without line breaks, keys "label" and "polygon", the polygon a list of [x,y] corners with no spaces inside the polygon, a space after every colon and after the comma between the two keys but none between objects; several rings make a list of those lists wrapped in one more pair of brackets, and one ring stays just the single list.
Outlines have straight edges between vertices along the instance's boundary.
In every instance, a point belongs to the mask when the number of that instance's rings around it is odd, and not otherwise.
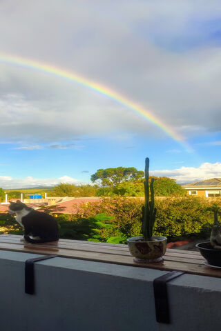
[{"label": "black metal bracket on wall below the cactus pot", "polygon": [[166,283],[172,279],[180,277],[184,273],[185,272],[182,271],[172,271],[154,279],[153,290],[155,297],[156,319],[158,323],[171,323]]}]

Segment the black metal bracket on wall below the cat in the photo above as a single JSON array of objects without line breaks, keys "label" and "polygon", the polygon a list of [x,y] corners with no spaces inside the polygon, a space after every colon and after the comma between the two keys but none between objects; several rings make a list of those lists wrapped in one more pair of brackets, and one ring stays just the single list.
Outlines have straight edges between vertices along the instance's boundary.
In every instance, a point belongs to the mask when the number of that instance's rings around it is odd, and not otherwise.
[{"label": "black metal bracket on wall below the cat", "polygon": [[26,260],[25,265],[25,292],[28,294],[35,294],[35,267],[34,263],[37,261],[43,261],[52,259],[57,255],[44,255],[42,257],[36,257],[35,259]]}]

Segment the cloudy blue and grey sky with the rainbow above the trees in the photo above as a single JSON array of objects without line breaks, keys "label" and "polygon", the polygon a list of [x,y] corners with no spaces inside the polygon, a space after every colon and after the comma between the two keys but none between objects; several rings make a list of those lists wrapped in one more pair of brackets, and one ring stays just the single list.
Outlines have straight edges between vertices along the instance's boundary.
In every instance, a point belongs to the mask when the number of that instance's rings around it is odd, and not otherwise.
[{"label": "cloudy blue and grey sky with the rainbow above the trees", "polygon": [[220,1],[0,0],[0,40],[1,188],[146,157],[177,183],[221,178]]}]

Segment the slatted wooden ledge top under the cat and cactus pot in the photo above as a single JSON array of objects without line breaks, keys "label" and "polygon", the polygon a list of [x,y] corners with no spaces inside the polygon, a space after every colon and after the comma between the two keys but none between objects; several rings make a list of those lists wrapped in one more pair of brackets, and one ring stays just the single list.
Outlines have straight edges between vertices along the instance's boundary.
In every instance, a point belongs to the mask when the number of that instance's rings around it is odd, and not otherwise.
[{"label": "slatted wooden ledge top under the cat and cactus pot", "polygon": [[164,261],[160,263],[135,263],[127,245],[97,243],[60,239],[52,243],[23,243],[21,236],[12,234],[0,235],[0,250],[14,252],[30,252],[36,254],[57,254],[59,257],[82,259],[103,263],[130,265],[157,270],[180,270],[189,274],[221,277],[221,270],[210,268],[204,264],[200,252],[167,249]]}]

